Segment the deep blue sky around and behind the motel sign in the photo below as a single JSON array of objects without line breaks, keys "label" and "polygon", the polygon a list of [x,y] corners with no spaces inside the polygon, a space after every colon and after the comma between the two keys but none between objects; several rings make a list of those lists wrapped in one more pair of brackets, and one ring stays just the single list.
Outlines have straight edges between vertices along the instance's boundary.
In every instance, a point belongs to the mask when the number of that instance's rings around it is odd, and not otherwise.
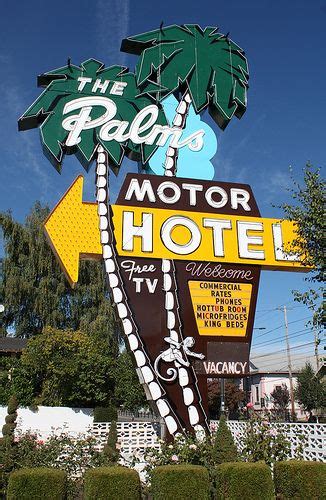
[{"label": "deep blue sky around and behind the motel sign", "polygon": [[[288,199],[289,166],[299,180],[307,160],[325,165],[325,1],[5,2],[0,19],[0,210],[11,209],[23,220],[35,200],[53,207],[76,175],[84,173],[68,157],[59,175],[42,154],[38,131],[17,131],[18,117],[39,95],[37,75],[66,64],[68,57],[75,64],[94,57],[133,69],[135,57],[119,52],[121,39],[157,28],[161,21],[219,26],[246,51],[248,109],[224,132],[215,127],[216,180],[250,184],[262,215],[278,217],[281,212],[272,204]],[[125,162],[113,181],[115,191],[133,168]],[[86,178],[85,199],[92,200],[93,169]],[[300,274],[262,273],[256,327],[267,330],[256,331],[254,344],[276,342],[257,346],[256,353],[275,351],[275,357],[257,358],[257,364],[258,359],[270,369],[286,364],[284,354],[276,353],[284,348],[278,306],[294,307],[288,313],[292,345],[312,341],[311,332],[301,332],[309,312],[291,296],[292,289],[304,286]],[[312,346],[294,351],[295,366],[307,352]]]}]

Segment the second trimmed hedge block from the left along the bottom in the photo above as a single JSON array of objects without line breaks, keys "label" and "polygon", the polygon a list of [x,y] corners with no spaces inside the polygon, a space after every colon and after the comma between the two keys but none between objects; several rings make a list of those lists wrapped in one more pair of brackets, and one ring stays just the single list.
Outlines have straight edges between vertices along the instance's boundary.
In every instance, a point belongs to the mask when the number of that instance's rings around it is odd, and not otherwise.
[{"label": "second trimmed hedge block from the left along the bottom", "polygon": [[97,467],[85,474],[85,500],[140,500],[137,472],[127,467]]}]

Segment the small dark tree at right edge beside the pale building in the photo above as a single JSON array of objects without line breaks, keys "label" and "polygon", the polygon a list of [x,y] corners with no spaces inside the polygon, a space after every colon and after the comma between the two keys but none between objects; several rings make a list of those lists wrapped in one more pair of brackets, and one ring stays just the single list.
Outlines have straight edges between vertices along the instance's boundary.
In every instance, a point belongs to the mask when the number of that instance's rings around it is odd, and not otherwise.
[{"label": "small dark tree at right edge beside the pale building", "polygon": [[325,383],[316,377],[310,363],[306,363],[298,373],[295,397],[306,411],[317,410],[326,406]]}]

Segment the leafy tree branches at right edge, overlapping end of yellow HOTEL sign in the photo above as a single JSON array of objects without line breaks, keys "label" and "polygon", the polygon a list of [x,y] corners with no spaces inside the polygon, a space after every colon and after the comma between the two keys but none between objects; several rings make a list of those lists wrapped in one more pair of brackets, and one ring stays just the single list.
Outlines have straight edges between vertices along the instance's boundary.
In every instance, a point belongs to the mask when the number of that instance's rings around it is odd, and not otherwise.
[{"label": "leafy tree branches at right edge, overlapping end of yellow HOTEL sign", "polygon": [[303,264],[312,266],[308,277],[310,283],[317,285],[306,292],[294,292],[295,299],[306,304],[314,313],[313,323],[321,327],[323,306],[321,298],[323,290],[318,285],[324,281],[325,276],[325,249],[324,249],[324,220],[325,220],[325,180],[320,169],[307,163],[303,170],[303,185],[293,177],[294,187],[290,190],[293,204],[281,205],[286,218],[297,223],[297,238],[289,249],[299,255]]}]

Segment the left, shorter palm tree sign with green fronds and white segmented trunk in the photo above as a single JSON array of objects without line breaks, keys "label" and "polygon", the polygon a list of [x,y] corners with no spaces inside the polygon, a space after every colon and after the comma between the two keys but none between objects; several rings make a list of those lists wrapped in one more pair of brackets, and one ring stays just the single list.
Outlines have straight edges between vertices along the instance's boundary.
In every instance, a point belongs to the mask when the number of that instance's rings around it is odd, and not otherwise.
[{"label": "left, shorter palm tree sign with green fronds and white segmented trunk", "polygon": [[[128,306],[117,265],[109,208],[109,166],[114,172],[117,172],[124,155],[146,164],[157,146],[144,143],[135,144],[130,139],[124,142],[103,140],[100,135],[100,125],[82,130],[80,138],[74,144],[67,144],[69,142],[69,129],[71,128],[68,125],[69,123],[73,125],[76,115],[72,114],[75,111],[65,113],[66,106],[74,99],[76,101],[81,100],[82,108],[80,113],[88,113],[90,112],[89,109],[85,111],[88,103],[87,99],[96,96],[100,99],[98,100],[100,103],[103,102],[101,101],[103,96],[108,96],[116,105],[114,117],[116,126],[118,126],[118,120],[131,123],[137,113],[153,104],[153,98],[150,94],[154,88],[157,88],[157,85],[154,83],[152,88],[149,85],[149,94],[142,93],[136,85],[133,73],[128,72],[126,68],[121,66],[104,68],[104,65],[95,59],[83,62],[80,67],[69,63],[67,66],[45,73],[38,78],[38,84],[46,87],[46,89],[19,119],[19,130],[40,126],[44,153],[59,171],[65,154],[76,154],[86,170],[96,158],[96,196],[101,243],[113,300],[117,305],[117,311],[122,320],[129,347],[135,356],[136,364],[141,360],[142,366],[146,367],[148,378],[152,380],[149,391],[155,392],[158,407],[164,408],[166,425],[169,432],[173,434],[178,429],[180,430],[180,424],[170,402],[164,397],[164,389],[151,366],[138,334],[133,314]],[[123,94],[122,92],[112,91],[115,84],[118,84],[118,88],[124,89]],[[100,105],[94,107],[91,113],[92,120],[95,120],[103,114],[103,108]],[[62,126],[63,119],[67,120],[68,125],[66,128]],[[156,123],[167,124],[160,105],[158,105]]]}]

